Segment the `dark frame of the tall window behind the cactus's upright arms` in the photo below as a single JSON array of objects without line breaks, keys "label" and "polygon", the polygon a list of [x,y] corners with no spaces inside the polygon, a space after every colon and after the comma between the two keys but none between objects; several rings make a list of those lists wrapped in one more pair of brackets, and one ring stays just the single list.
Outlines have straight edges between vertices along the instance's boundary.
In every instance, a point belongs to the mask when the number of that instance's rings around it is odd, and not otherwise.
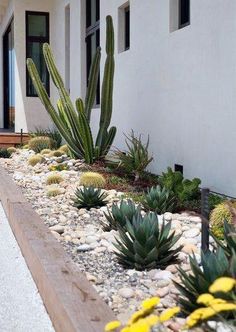
[{"label": "dark frame of the tall window behind the cactus's upright arms", "polygon": [[[86,32],[85,32],[85,42],[86,42],[86,82],[88,85],[90,68],[93,61],[93,56],[91,48],[89,45],[89,39],[96,35],[96,48],[100,46],[100,0],[96,0],[96,22],[91,24],[91,0],[86,1]],[[95,106],[100,105],[100,74],[98,77],[97,91]]]}]

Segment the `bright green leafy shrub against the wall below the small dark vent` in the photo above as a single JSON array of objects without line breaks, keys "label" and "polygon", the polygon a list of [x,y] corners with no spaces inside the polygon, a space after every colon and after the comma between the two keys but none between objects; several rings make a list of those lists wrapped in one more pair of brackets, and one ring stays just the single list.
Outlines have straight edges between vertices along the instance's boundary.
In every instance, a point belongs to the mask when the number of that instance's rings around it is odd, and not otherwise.
[{"label": "bright green leafy shrub against the wall below the small dark vent", "polygon": [[182,173],[174,172],[170,167],[168,167],[167,172],[162,173],[159,177],[159,183],[162,188],[165,187],[172,191],[180,204],[200,197],[199,186],[201,180],[198,178],[184,180]]}]

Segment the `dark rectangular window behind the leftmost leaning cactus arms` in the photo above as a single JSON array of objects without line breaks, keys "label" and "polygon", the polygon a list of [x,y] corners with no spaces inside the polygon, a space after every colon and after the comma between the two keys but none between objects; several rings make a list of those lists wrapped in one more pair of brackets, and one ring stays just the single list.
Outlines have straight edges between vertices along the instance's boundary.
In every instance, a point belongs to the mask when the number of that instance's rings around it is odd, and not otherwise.
[{"label": "dark rectangular window behind the leftmost leaning cactus arms", "polygon": [[[26,58],[32,58],[49,94],[49,73],[43,57],[43,44],[49,43],[49,13],[26,12]],[[37,97],[26,70],[26,95]]]}]

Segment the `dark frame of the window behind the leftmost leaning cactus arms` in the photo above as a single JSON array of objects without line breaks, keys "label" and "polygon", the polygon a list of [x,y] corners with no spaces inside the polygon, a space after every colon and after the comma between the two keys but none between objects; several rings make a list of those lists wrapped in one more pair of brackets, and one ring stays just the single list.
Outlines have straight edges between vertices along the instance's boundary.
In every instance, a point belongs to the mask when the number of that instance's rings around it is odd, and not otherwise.
[{"label": "dark frame of the window behind the leftmost leaning cactus arms", "polygon": [[[45,37],[39,37],[39,36],[29,36],[29,24],[28,24],[28,16],[44,16],[46,18],[46,36]],[[50,42],[50,14],[48,12],[38,12],[38,11],[26,11],[25,12],[25,46],[26,46],[26,59],[30,57],[29,54],[29,48],[28,43],[49,43]],[[48,71],[46,70],[47,75],[47,84],[46,84],[46,91],[48,95],[50,96],[50,76]],[[29,93],[29,84],[32,84],[31,77],[29,75],[29,72],[26,68],[26,97],[38,97],[37,94],[30,94]]]}]

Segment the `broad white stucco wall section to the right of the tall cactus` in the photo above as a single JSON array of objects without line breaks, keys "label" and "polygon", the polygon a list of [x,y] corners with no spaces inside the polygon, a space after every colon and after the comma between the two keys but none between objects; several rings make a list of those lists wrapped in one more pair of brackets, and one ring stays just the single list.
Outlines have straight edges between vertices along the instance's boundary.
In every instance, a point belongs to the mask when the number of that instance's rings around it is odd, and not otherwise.
[{"label": "broad white stucco wall section to the right of the tall cactus", "polygon": [[[118,31],[118,7],[101,1],[101,45],[105,16]],[[114,114],[122,133],[150,136],[161,173],[181,164],[186,177],[236,196],[236,1],[191,1],[191,25],[169,32],[169,1],[130,1],[131,48],[116,50]],[[116,40],[117,45],[117,40]]]}]

